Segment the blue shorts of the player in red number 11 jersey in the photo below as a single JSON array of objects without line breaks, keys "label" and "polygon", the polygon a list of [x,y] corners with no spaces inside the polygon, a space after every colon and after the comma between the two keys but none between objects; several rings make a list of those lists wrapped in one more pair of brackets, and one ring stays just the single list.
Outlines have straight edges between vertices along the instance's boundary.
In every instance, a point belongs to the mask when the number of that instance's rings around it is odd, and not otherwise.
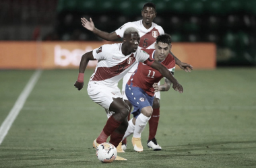
[{"label": "blue shorts of the player in red number 11 jersey", "polygon": [[139,116],[141,109],[147,106],[152,106],[154,101],[154,96],[148,95],[143,89],[139,87],[133,87],[132,85],[125,86],[125,94],[131,104],[133,105],[133,117],[137,118]]}]

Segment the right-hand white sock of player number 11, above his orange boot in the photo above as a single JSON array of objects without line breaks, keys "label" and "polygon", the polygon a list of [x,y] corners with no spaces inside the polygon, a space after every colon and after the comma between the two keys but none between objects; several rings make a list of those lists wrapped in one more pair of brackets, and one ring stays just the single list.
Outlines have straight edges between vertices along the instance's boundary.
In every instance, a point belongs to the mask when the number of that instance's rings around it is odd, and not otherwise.
[{"label": "right-hand white sock of player number 11, above his orange boot", "polygon": [[148,120],[150,120],[151,117],[147,117],[144,114],[139,114],[139,116],[136,119],[135,122],[135,130],[133,133],[134,138],[140,138],[141,137],[141,132],[144,130],[146,127]]}]

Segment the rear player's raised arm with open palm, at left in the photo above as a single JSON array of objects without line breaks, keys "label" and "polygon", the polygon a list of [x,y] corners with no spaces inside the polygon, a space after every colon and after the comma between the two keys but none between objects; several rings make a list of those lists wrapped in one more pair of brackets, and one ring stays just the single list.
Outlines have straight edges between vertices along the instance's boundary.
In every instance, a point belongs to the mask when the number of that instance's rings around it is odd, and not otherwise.
[{"label": "rear player's raised arm with open palm, at left", "polygon": [[84,28],[86,28],[87,30],[90,30],[100,38],[103,38],[104,40],[113,41],[113,40],[119,39],[119,36],[117,36],[116,32],[108,33],[95,28],[94,22],[92,22],[91,17],[90,17],[90,21],[88,21],[88,19],[86,19],[85,17],[82,17],[81,22]]}]

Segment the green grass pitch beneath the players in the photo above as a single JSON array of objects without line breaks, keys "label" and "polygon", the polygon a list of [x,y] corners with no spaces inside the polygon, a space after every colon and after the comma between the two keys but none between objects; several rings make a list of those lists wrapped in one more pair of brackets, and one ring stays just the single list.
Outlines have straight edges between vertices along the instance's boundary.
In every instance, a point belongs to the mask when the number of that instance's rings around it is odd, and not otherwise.
[{"label": "green grass pitch beneath the players", "polygon": [[[0,124],[34,71],[0,71]],[[73,83],[78,70],[42,71],[20,114],[0,144],[0,167],[256,167],[256,69],[219,68],[176,71],[184,87],[161,93],[157,140],[162,151],[146,146],[127,161],[100,163],[93,140],[106,114]],[[121,83],[119,83],[121,84]],[[121,86],[121,85],[119,85]]]}]

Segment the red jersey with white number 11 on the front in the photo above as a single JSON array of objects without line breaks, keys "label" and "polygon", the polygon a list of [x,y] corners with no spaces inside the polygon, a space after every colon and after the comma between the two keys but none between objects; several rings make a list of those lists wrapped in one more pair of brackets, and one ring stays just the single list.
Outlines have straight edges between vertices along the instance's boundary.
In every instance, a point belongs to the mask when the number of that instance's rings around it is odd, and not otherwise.
[{"label": "red jersey with white number 11 on the front", "polygon": [[[155,49],[142,49],[150,54],[150,58],[154,59]],[[175,60],[171,54],[168,54],[162,62],[160,62],[164,67],[166,67],[170,72],[174,72],[175,70]],[[128,85],[133,84],[134,87],[140,87],[148,93],[150,96],[154,96],[154,88],[153,84],[158,83],[162,79],[162,74],[149,67],[148,65],[139,62],[137,70],[131,75],[129,81],[127,82]]]}]

